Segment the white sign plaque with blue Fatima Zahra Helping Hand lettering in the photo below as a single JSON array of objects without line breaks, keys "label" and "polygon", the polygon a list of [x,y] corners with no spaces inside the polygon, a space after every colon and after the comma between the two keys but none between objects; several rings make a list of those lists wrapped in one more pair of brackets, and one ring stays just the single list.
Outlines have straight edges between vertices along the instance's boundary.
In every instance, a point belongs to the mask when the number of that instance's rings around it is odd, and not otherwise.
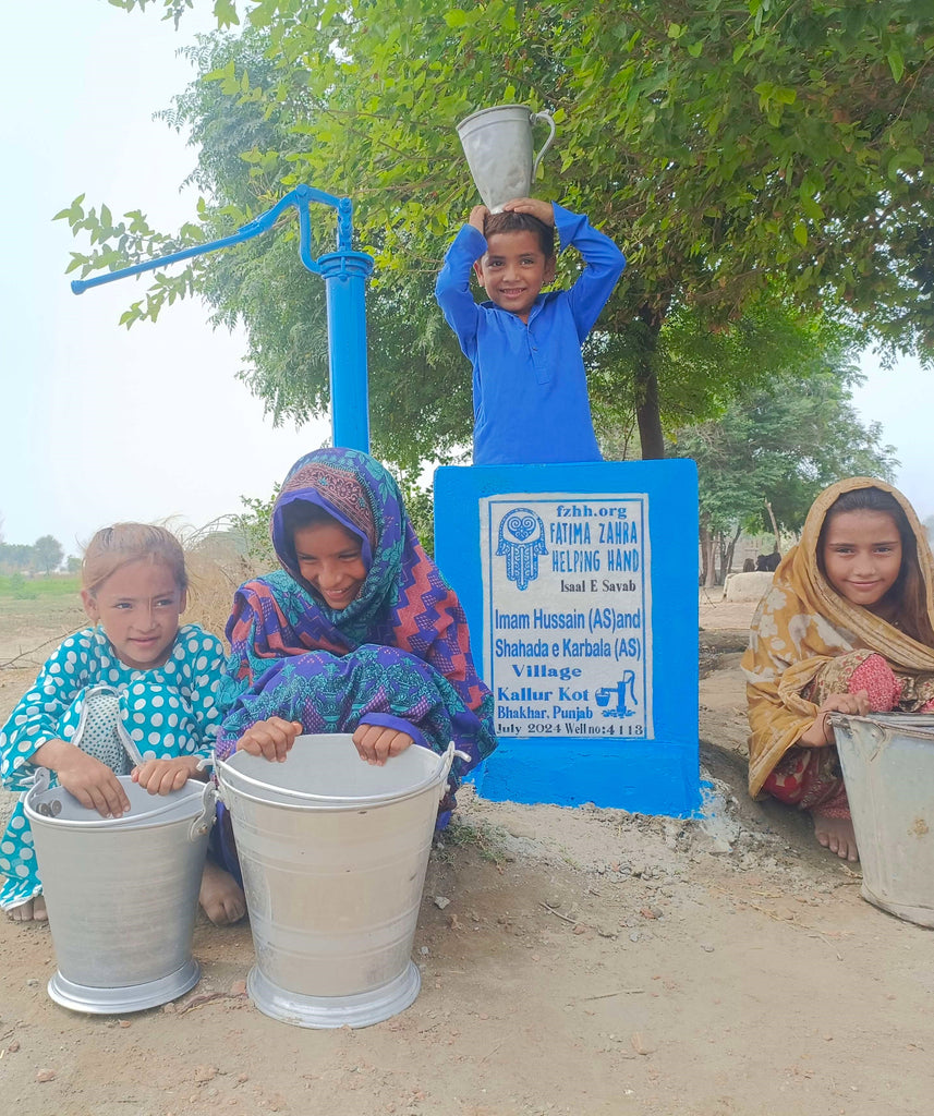
[{"label": "white sign plaque with blue Fatima Zahra Helping Hand lettering", "polygon": [[497,732],[652,739],[646,494],[480,500]]}]

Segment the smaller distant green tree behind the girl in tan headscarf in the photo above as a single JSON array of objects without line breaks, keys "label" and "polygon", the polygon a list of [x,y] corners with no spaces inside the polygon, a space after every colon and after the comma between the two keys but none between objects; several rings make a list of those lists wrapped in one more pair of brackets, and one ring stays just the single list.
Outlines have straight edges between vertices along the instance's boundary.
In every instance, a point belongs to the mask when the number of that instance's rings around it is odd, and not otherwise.
[{"label": "smaller distant green tree behind the girl in tan headscarf", "polygon": [[[716,421],[678,432],[697,463],[704,584],[722,581],[742,530],[799,531],[821,489],[845,477],[892,480],[898,462],[878,423],[853,406],[861,382],[846,349],[735,400]],[[719,574],[716,570],[719,558]]]}]

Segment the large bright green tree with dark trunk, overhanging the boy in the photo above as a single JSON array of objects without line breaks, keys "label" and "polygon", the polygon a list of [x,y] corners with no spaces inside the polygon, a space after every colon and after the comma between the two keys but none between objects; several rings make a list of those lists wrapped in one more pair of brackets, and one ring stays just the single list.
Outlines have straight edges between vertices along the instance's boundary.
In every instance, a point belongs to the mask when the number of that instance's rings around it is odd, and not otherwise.
[{"label": "large bright green tree with dark trunk, overhanging the boy", "polygon": [[[167,16],[191,6],[162,4]],[[662,454],[677,397],[673,316],[729,329],[777,286],[892,353],[930,355],[934,12],[916,0],[224,0],[214,11],[221,25],[242,12],[267,37],[272,74],[231,58],[208,77],[290,118],[287,147],[244,157],[260,174],[285,158],[279,190],[307,180],[358,198],[363,240],[387,270],[434,271],[473,201],[459,118],[503,100],[553,110],[560,142],[537,190],[633,246],[597,338],[607,363],[595,396],[632,400],[646,456]],[[109,266],[122,223],[80,204],[71,215],[103,244],[76,264]]]}]

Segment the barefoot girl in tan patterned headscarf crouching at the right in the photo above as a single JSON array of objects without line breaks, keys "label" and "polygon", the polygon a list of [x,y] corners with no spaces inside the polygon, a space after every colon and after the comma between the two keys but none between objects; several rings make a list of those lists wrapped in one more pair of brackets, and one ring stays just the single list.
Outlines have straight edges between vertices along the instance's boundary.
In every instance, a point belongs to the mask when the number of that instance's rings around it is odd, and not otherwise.
[{"label": "barefoot girl in tan patterned headscarf crouching at the right", "polygon": [[934,558],[901,492],[854,477],[820,493],[742,667],[750,793],[809,810],[819,843],[856,860],[828,714],[934,712]]}]

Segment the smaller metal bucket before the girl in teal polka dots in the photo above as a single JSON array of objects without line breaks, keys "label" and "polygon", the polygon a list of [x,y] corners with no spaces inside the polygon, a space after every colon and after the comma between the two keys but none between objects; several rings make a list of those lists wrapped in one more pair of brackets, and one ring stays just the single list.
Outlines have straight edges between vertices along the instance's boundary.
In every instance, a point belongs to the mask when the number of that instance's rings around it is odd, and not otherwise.
[{"label": "smaller metal bucket before the girl in teal polka dots", "polygon": [[214,786],[156,797],[117,778],[129,799],[121,818],[49,789],[44,768],[25,802],[58,962],[48,993],[95,1014],[158,1007],[201,975],[191,947]]}]

